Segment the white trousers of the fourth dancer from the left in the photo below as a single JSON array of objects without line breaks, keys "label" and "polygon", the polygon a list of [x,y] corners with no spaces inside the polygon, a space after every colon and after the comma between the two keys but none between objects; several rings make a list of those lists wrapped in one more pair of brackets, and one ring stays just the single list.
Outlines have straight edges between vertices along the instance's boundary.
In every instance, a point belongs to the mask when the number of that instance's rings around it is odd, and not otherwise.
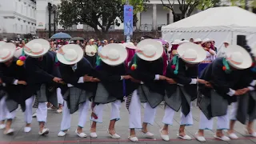
[{"label": "white trousers of the fourth dancer from the left", "polygon": [[[102,118],[103,118],[103,109],[104,109],[105,104],[99,104],[94,106],[94,114],[97,115],[98,119],[95,118],[90,118],[91,121],[102,123]],[[111,116],[110,120],[116,120],[118,121],[120,119],[120,107],[121,107],[121,101],[116,100],[114,102],[111,102]]]}]

